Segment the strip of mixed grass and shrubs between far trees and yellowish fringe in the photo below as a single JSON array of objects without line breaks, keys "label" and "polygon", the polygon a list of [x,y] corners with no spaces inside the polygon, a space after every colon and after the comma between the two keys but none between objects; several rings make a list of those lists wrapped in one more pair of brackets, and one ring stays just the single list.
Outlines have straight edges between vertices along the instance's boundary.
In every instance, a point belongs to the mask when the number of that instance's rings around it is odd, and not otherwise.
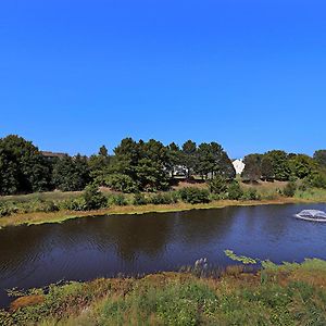
[{"label": "strip of mixed grass and shrubs between far trees and yellowish fringe", "polygon": [[96,185],[90,185],[84,192],[52,192],[1,198],[0,217],[10,218],[11,215],[61,211],[62,214],[67,214],[66,211],[84,212],[114,206],[130,206],[133,210],[133,205],[150,204],[175,206],[181,203],[204,204],[216,201],[218,204],[221,200],[222,203],[223,200],[236,200],[244,203],[246,201],[261,200],[283,202],[284,199],[293,197],[294,200],[302,201],[326,201],[325,189],[310,188],[304,184],[290,183],[285,184],[283,188],[266,188],[265,186],[243,186],[234,180],[225,181],[225,187],[222,189],[221,193],[212,193],[209,188],[186,187],[168,192],[124,195],[100,192]]}]

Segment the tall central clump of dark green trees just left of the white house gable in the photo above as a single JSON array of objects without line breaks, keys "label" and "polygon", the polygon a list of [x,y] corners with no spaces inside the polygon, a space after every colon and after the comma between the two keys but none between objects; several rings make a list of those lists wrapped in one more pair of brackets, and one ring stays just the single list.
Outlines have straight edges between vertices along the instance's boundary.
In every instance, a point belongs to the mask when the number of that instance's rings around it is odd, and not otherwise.
[{"label": "tall central clump of dark green trees just left of the white house gable", "polygon": [[179,171],[188,179],[193,174],[203,179],[216,174],[225,178],[236,175],[230,159],[216,142],[197,146],[188,140],[179,148],[174,142],[165,147],[154,139],[136,142],[131,138],[123,139],[115,148],[104,171],[98,172],[96,180],[125,192],[167,190]]}]

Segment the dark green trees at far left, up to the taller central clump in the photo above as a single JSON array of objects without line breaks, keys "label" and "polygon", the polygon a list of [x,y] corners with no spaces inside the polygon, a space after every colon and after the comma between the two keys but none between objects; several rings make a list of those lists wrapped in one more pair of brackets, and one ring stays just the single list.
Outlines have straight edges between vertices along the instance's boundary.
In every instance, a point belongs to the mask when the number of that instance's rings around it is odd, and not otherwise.
[{"label": "dark green trees at far left, up to the taller central clump", "polygon": [[85,156],[49,159],[22,137],[10,135],[0,139],[0,195],[82,190],[89,181]]}]

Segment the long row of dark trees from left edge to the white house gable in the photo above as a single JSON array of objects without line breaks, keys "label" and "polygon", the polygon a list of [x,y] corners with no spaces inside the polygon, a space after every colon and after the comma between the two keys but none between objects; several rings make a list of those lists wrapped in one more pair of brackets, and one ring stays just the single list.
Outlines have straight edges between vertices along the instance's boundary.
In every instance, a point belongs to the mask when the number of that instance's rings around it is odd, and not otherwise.
[{"label": "long row of dark trees from left edge to the white house gable", "polygon": [[177,171],[188,179],[222,175],[234,178],[226,152],[216,143],[188,140],[181,148],[125,138],[110,156],[103,146],[90,158],[63,155],[46,158],[30,141],[18,136],[0,139],[0,193],[27,193],[59,189],[83,190],[88,184],[109,186],[124,192],[167,190]]}]

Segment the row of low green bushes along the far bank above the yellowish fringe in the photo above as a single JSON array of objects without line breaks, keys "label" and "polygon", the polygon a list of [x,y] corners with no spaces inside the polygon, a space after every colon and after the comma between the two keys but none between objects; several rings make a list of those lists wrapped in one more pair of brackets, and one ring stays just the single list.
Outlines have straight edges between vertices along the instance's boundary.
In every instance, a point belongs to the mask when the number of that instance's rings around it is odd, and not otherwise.
[{"label": "row of low green bushes along the far bank above the yellowish fringe", "polygon": [[[242,188],[237,180],[226,180],[221,176],[215,176],[214,179],[208,181],[209,189],[200,189],[196,187],[181,188],[178,191],[143,193],[135,195],[110,193],[104,196],[97,185],[90,184],[85,188],[85,191],[79,197],[63,200],[60,197],[54,197],[54,200],[43,199],[42,197],[34,197],[29,201],[8,200],[0,201],[0,217],[10,216],[16,213],[33,213],[33,212],[57,212],[59,210],[68,211],[90,211],[109,208],[111,205],[146,205],[146,204],[174,204],[178,201],[191,204],[209,203],[212,200],[261,200],[276,199],[279,196],[293,197],[314,197],[317,196],[313,191],[316,188],[326,188],[326,177],[323,174],[314,174],[306,177],[304,180],[291,180],[284,189],[261,189],[258,192],[255,187]],[[298,191],[297,191],[298,190]],[[302,191],[304,193],[302,193]],[[324,190],[321,190],[324,191]],[[306,193],[305,193],[306,192]],[[25,199],[23,199],[25,200]]]}]

